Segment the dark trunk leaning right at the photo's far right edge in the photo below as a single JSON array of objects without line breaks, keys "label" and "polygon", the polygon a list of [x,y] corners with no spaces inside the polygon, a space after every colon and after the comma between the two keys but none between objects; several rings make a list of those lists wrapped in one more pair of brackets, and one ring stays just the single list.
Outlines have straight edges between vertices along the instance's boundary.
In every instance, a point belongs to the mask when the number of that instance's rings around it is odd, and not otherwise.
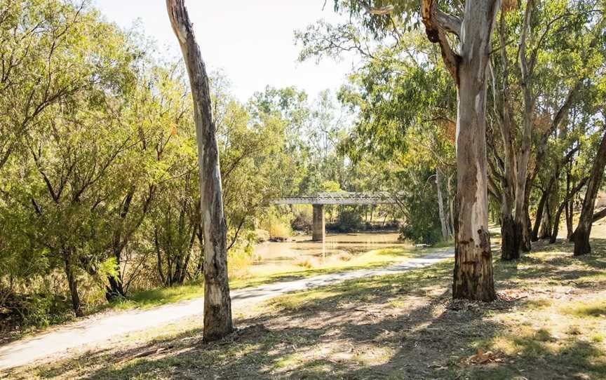
[{"label": "dark trunk leaning right at the photo's far right edge", "polygon": [[587,191],[583,201],[583,208],[581,209],[581,217],[579,217],[577,229],[574,230],[574,256],[585,255],[591,252],[589,235],[591,234],[591,224],[593,224],[593,208],[595,207],[595,198],[598,196],[598,190],[602,184],[605,165],[606,132],[604,133],[604,136],[602,136],[600,149],[598,149],[598,154],[596,154],[595,160],[593,161],[593,168],[591,168],[591,175],[587,182]]}]

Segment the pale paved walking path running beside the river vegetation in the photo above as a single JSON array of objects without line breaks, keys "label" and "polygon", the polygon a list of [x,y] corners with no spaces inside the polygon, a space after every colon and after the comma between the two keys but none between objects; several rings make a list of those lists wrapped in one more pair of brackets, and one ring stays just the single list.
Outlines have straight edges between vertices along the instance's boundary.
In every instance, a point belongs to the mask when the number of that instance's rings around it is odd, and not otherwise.
[{"label": "pale paved walking path running beside the river vegetation", "polygon": [[[400,264],[393,264],[379,269],[358,269],[355,271],[330,273],[299,280],[234,290],[231,292],[232,307],[234,310],[242,310],[243,306],[257,304],[286,292],[307,290],[311,287],[329,285],[352,278],[383,276],[410,271],[435,264],[447,257],[453,256],[454,250],[452,248],[444,248],[422,257],[408,259]],[[31,364],[32,362],[36,362],[36,360],[48,359],[52,355],[86,344],[99,343],[101,346],[102,341],[116,335],[166,325],[175,322],[175,320],[201,314],[202,310],[203,299],[198,298],[144,310],[134,309],[101,315],[99,317],[93,316],[92,318],[86,318],[75,323],[69,323],[51,332],[43,332],[0,346],[0,371]]]}]

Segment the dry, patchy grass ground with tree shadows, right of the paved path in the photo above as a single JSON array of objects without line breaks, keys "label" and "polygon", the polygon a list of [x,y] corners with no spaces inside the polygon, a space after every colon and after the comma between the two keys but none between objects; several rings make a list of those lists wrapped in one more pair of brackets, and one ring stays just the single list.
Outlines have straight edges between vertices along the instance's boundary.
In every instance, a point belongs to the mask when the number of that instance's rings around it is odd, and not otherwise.
[{"label": "dry, patchy grass ground with tree shadows, right of the paved path", "polygon": [[[11,379],[606,379],[606,240],[495,262],[499,300],[450,299],[452,260],[272,299],[213,344],[190,318]],[[498,257],[498,252],[494,252]]]}]

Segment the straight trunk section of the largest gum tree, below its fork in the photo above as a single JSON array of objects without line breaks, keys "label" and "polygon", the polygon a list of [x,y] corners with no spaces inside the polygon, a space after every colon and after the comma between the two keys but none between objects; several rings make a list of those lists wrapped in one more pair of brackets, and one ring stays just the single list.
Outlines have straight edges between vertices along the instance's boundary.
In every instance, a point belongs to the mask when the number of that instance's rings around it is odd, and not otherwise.
[{"label": "straight trunk section of the largest gum tree, below its fork", "polygon": [[[471,3],[473,4],[473,1]],[[473,25],[476,22],[472,21],[469,24]],[[471,30],[466,31],[468,36],[479,32],[471,27],[469,29]],[[476,45],[477,50],[464,51],[464,56],[472,58],[475,55],[478,57],[482,52],[480,42],[469,43],[469,45]],[[482,53],[488,53],[488,50]],[[482,75],[485,67],[482,69],[481,62],[474,61],[479,60],[464,59],[459,65],[460,87],[457,117],[459,231],[457,231],[452,295],[454,298],[492,301],[496,296],[492,280],[492,252],[488,234],[486,85]]]}]

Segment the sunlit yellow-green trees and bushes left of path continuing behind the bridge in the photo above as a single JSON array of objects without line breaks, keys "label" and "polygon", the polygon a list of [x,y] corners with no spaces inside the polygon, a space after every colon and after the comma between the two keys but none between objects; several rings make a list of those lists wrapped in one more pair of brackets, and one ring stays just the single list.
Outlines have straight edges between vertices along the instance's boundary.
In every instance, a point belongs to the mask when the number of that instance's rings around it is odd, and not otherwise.
[{"label": "sunlit yellow-green trees and bushes left of path continuing behind the bridge", "polygon": [[[79,2],[1,5],[1,328],[43,326],[203,272],[191,96],[182,62],[139,30]],[[267,88],[242,103],[210,76],[229,274],[268,231],[309,229],[311,210],[269,201],[379,191],[372,165],[337,145],[349,113],[335,94]],[[374,173],[375,177],[367,176]],[[393,227],[386,206],[329,208],[339,231]],[[396,227],[397,228],[397,227]]]}]

